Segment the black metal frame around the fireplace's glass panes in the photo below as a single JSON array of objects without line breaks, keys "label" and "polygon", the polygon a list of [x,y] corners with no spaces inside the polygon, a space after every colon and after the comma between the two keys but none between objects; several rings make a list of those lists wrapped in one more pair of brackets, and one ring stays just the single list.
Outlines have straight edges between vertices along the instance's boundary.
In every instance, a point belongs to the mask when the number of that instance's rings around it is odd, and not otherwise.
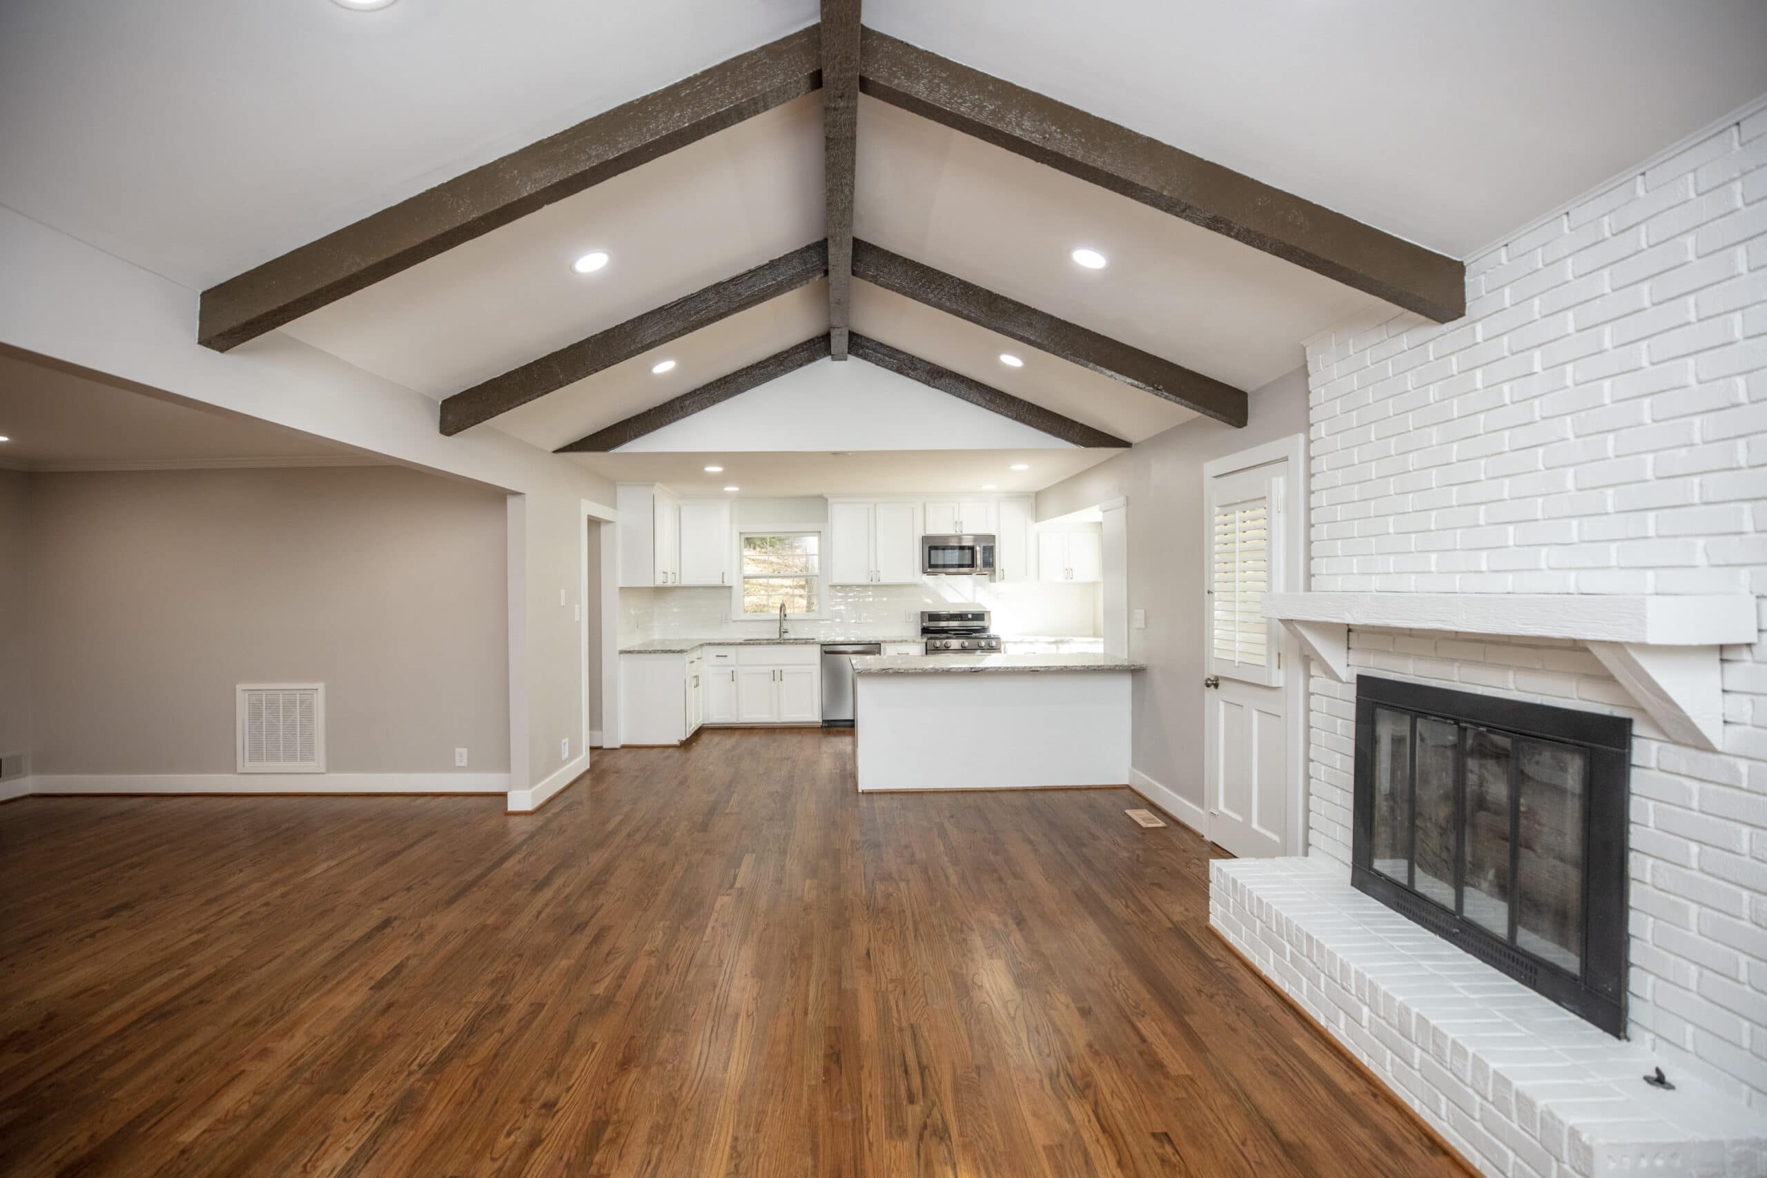
[{"label": "black metal frame around the fireplace's glass panes", "polygon": [[[1583,791],[1583,952],[1578,957],[1580,975],[1511,945],[1422,892],[1396,883],[1373,869],[1376,708],[1488,728],[1523,738],[1550,740],[1585,751],[1589,782]],[[1633,722],[1626,717],[1361,675],[1355,687],[1355,828],[1352,832],[1350,883],[1566,1010],[1624,1038],[1629,955],[1626,860],[1627,825],[1631,821],[1631,749]],[[1465,761],[1465,742],[1460,759]],[[1415,788],[1414,772],[1412,789],[1415,791]],[[1460,816],[1465,814],[1465,774],[1456,774],[1454,805]],[[1516,805],[1514,795],[1511,795],[1511,805]],[[1465,835],[1460,841],[1465,842]],[[1514,846],[1516,839],[1513,837],[1511,848]],[[1465,885],[1465,860],[1463,851],[1454,860],[1456,897],[1461,895]],[[1514,871],[1511,871],[1509,880],[1514,887]]]}]

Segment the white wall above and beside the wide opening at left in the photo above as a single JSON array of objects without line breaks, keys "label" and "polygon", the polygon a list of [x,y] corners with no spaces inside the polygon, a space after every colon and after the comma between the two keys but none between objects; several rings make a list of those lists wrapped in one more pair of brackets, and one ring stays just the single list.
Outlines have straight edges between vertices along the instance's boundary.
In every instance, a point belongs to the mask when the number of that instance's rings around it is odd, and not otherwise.
[{"label": "white wall above and beside the wide opening at left", "polygon": [[228,353],[196,343],[196,291],[0,208],[0,344],[482,482],[514,496],[509,544],[511,786],[583,744],[581,641],[558,590],[580,585],[581,502],[613,487],[491,427],[454,438],[436,403],[272,332]]}]

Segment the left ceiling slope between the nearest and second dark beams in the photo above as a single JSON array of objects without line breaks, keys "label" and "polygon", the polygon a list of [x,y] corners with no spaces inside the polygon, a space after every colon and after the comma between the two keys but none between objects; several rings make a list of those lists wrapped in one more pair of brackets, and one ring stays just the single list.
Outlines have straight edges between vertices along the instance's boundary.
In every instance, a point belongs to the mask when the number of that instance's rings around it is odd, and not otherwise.
[{"label": "left ceiling slope between the nearest and second dark beams", "polygon": [[[445,397],[820,240],[823,223],[822,99],[808,94],[283,330]],[[576,274],[595,249],[608,265]]]}]

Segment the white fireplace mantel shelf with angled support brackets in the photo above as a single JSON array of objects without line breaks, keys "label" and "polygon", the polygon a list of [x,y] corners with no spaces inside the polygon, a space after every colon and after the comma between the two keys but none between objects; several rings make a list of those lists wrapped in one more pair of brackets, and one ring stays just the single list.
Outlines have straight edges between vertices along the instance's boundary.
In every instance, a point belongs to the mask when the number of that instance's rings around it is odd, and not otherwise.
[{"label": "white fireplace mantel shelf with angled support brackets", "polygon": [[1265,593],[1313,661],[1348,682],[1350,627],[1581,641],[1672,740],[1716,751],[1725,706],[1719,646],[1756,639],[1755,597],[1652,593]]}]

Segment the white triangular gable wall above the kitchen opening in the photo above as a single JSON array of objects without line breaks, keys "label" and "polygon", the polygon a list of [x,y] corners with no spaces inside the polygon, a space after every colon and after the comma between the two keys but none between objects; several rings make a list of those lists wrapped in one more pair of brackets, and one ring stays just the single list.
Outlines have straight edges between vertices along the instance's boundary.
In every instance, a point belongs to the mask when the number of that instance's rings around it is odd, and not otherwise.
[{"label": "white triangular gable wall above the kitchen opening", "polygon": [[[1143,394],[1145,396],[1145,394]],[[1071,450],[1071,443],[866,360],[816,360],[618,449]]]}]

